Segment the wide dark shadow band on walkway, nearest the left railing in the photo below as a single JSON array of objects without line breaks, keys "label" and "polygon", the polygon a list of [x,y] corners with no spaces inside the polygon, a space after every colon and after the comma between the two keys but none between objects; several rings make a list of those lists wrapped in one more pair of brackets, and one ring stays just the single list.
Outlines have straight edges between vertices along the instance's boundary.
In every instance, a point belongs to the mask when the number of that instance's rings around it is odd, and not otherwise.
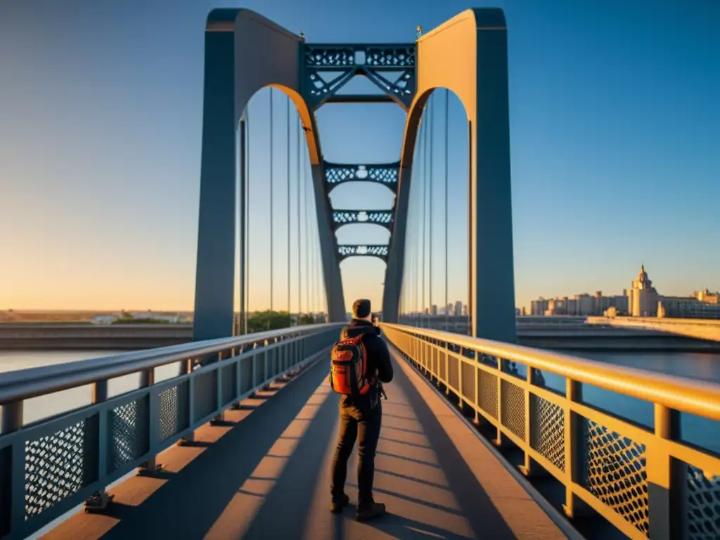
[{"label": "wide dark shadow band on walkway, nearest the left railing", "polygon": [[[327,369],[327,362],[321,359],[288,387],[266,400],[142,505],[127,509],[125,519],[104,538],[203,538],[323,381]],[[320,405],[317,413],[320,418],[310,423],[308,436],[318,431],[312,426],[322,423],[332,410],[331,400]],[[305,444],[300,444],[297,451],[302,451],[305,460],[312,454],[312,448]],[[297,473],[302,474],[302,471]],[[307,477],[303,474],[298,481],[307,482]],[[305,485],[297,485],[297,490],[305,489]],[[289,512],[292,513],[292,507],[288,505],[279,504],[274,508],[275,516],[283,515],[283,521]]]}]

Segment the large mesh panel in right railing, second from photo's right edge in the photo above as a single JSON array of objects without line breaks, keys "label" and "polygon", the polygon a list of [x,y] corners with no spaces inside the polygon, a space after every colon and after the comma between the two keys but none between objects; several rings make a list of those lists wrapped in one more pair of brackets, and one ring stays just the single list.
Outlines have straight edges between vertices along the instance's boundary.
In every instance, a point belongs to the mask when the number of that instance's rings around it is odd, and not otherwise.
[{"label": "large mesh panel in right railing, second from photo's right edge", "polygon": [[648,534],[645,446],[582,418],[580,459],[585,487]]}]

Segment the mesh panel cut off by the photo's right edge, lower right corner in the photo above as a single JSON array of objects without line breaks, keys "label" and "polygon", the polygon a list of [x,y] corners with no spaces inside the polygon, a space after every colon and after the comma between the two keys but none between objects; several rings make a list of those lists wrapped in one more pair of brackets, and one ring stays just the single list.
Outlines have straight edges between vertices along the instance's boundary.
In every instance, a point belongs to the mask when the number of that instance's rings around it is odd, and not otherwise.
[{"label": "mesh panel cut off by the photo's right edge, lower right corner", "polygon": [[720,476],[708,479],[701,469],[688,465],[687,540],[720,538]]}]

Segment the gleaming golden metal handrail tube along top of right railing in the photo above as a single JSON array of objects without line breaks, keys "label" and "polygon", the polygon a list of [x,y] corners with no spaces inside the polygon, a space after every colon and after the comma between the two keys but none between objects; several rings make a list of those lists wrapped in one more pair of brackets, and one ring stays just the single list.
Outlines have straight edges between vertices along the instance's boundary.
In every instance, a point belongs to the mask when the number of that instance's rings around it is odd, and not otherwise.
[{"label": "gleaming golden metal handrail tube along top of right railing", "polygon": [[656,372],[623,366],[609,366],[567,354],[542,351],[536,348],[500,343],[489,339],[472,338],[462,334],[382,323],[384,327],[411,332],[453,343],[480,354],[500,356],[535,369],[545,369],[577,382],[659,403],[711,420],[720,420],[720,384],[693,381]]}]

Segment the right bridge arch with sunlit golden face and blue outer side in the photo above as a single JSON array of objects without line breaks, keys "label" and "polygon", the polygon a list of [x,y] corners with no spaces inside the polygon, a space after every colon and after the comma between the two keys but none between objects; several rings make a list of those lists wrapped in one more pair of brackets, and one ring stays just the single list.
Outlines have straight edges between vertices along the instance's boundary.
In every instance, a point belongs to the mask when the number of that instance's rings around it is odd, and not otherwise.
[{"label": "right bridge arch with sunlit golden face and blue outer side", "polygon": [[405,123],[383,318],[396,322],[408,198],[420,117],[436,89],[459,97],[468,120],[469,312],[472,336],[517,340],[510,194],[508,40],[502,9],[467,9],[418,38],[415,99]]}]

